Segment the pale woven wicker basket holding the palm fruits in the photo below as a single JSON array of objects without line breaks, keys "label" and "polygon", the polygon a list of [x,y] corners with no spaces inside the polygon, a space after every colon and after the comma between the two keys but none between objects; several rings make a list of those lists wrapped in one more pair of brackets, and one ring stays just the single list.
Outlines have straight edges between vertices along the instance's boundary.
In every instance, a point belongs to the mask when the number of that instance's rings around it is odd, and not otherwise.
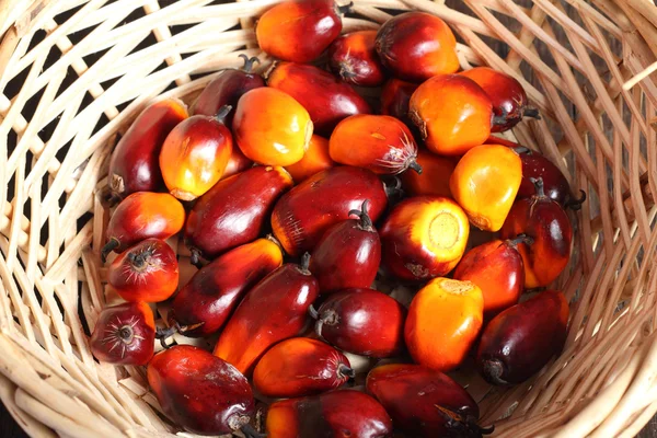
[{"label": "pale woven wicker basket holding the palm fruits", "polygon": [[[107,220],[100,194],[116,136],[149,101],[192,100],[208,73],[241,62],[238,53],[266,67],[252,25],[276,1],[0,8],[0,397],[30,435],[178,431],[158,413],[143,369],[99,365],[90,354],[89,330],[114,299],[99,261]],[[459,376],[483,424],[494,422],[500,437],[634,436],[657,411],[657,8],[354,2],[345,31],[376,28],[396,10],[428,11],[460,36],[464,68],[486,64],[521,80],[544,117],[514,136],[589,194],[573,216],[573,263],[556,285],[573,302],[566,349],[509,390]]]}]

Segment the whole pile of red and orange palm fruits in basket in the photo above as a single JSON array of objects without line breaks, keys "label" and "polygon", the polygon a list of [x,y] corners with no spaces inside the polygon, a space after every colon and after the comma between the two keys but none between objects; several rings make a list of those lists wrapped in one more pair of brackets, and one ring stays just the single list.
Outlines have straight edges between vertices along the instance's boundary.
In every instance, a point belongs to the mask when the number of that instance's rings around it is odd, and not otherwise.
[{"label": "whole pile of red and orange palm fruits in basket", "polygon": [[[520,383],[565,344],[568,303],[544,289],[568,265],[566,207],[581,200],[545,157],[493,136],[538,116],[521,84],[459,72],[437,16],[341,36],[346,9],[270,8],[256,26],[277,58],[266,78],[242,55],[189,111],[148,106],[112,155],[101,257],[126,302],[102,311],[91,347],[148,365],[188,431],[258,436],[257,399],[269,438],[481,437],[476,402],[446,372],[472,354],[489,383]],[[473,227],[486,239],[468,251]],[[198,268],[180,285],[176,234]],[[399,285],[410,306],[384,292]],[[342,388],[355,379],[362,391]]]}]

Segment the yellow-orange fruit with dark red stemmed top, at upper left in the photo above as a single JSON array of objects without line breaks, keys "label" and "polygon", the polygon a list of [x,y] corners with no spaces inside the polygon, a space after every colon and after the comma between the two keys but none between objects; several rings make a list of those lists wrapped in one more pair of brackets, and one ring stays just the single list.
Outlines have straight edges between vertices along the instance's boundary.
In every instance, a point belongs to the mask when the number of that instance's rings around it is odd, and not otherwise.
[{"label": "yellow-orange fruit with dark red stemmed top, at upper left", "polygon": [[194,200],[223,175],[233,141],[223,119],[232,110],[223,106],[215,116],[192,116],[166,137],[160,151],[160,169],[169,192]]}]

